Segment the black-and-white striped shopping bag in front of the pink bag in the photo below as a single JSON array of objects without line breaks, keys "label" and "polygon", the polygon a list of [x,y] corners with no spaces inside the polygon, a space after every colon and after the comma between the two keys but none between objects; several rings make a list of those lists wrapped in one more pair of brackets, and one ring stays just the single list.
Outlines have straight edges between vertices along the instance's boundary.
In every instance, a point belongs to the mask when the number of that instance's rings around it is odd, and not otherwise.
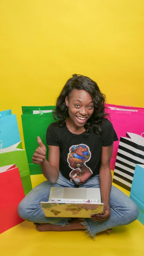
[{"label": "black-and-white striped shopping bag in front of the pink bag", "polygon": [[144,138],[134,133],[126,136],[120,138],[113,182],[131,191],[136,164],[144,164]]}]

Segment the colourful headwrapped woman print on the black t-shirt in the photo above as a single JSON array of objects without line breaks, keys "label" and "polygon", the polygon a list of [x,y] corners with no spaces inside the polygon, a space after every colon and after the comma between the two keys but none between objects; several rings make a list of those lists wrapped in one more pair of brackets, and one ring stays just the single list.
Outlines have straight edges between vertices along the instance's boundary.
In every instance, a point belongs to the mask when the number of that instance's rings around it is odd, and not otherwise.
[{"label": "colourful headwrapped woman print on the black t-shirt", "polygon": [[85,164],[91,158],[91,151],[85,144],[73,145],[69,149],[67,162],[72,169],[70,181],[75,184],[84,184],[93,174],[91,169]]}]

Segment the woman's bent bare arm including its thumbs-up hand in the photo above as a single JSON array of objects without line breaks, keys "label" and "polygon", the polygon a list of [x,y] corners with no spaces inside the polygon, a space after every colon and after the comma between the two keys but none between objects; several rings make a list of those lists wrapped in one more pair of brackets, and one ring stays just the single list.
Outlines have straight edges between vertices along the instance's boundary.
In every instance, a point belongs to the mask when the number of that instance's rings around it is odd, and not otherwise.
[{"label": "woman's bent bare arm including its thumbs-up hand", "polygon": [[35,150],[32,160],[35,164],[40,164],[44,177],[55,183],[59,177],[59,147],[49,146],[49,157],[46,160],[46,147],[38,136],[39,147]]}]

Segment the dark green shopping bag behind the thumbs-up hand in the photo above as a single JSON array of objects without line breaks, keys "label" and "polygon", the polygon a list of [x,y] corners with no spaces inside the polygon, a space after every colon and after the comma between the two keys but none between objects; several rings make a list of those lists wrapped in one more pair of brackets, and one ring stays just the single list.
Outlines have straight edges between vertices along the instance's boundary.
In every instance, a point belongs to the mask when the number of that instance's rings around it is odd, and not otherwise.
[{"label": "dark green shopping bag behind the thumbs-up hand", "polygon": [[41,166],[32,163],[32,156],[36,148],[38,147],[37,136],[40,136],[42,142],[46,146],[46,157],[48,157],[48,147],[46,145],[46,130],[49,124],[55,121],[52,117],[52,110],[54,109],[55,106],[22,106],[23,136],[31,175],[42,173]]}]

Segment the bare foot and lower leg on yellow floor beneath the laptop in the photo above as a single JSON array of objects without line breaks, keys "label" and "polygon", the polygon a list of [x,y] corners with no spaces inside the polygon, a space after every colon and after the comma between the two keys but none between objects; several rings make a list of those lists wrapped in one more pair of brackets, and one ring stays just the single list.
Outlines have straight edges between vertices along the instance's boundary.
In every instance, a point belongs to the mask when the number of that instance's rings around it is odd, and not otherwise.
[{"label": "bare foot and lower leg on yellow floor beneath the laptop", "polygon": [[85,227],[81,224],[81,221],[77,218],[74,218],[70,221],[69,226],[60,226],[60,225],[53,225],[49,223],[34,223],[36,229],[38,231],[68,231],[68,230],[75,230],[75,229],[85,229]]}]

